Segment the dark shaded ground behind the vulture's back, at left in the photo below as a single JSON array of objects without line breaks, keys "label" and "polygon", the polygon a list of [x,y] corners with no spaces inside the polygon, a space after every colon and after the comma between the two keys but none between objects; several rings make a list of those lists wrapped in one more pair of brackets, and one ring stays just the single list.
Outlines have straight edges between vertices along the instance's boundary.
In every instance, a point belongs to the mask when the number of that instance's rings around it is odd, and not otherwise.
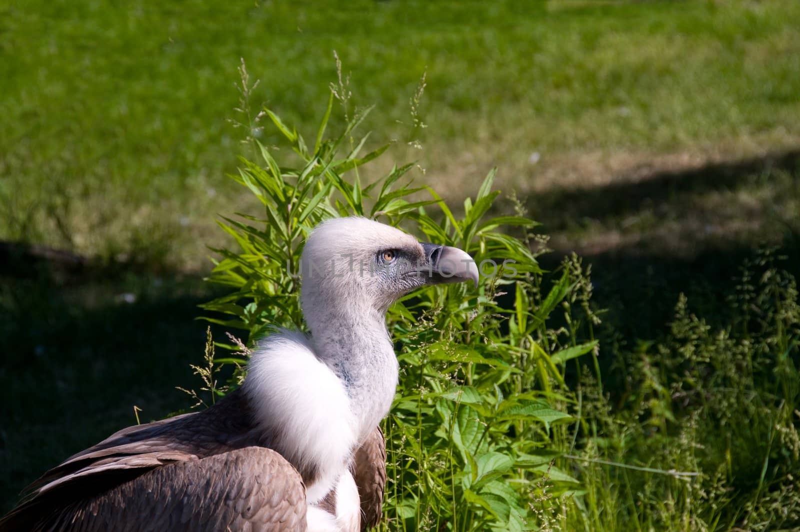
[{"label": "dark shaded ground behind the vulture's back, at left", "polygon": [[[22,251],[21,251],[22,250]],[[44,250],[38,250],[44,251]],[[66,267],[63,259],[66,259]],[[155,276],[18,247],[0,276],[0,513],[72,453],[187,409],[200,389],[215,294],[197,276]]]}]

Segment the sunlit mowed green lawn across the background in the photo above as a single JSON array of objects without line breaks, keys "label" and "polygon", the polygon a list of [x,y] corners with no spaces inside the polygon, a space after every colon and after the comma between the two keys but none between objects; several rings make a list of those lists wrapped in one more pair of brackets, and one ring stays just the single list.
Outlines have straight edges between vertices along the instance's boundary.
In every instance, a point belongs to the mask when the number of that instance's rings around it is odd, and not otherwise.
[{"label": "sunlit mowed green lawn across the background", "polygon": [[0,240],[205,268],[247,208],[240,59],[251,115],[313,137],[334,50],[370,142],[458,203],[492,166],[524,199],[800,143],[798,2],[5,2]]}]

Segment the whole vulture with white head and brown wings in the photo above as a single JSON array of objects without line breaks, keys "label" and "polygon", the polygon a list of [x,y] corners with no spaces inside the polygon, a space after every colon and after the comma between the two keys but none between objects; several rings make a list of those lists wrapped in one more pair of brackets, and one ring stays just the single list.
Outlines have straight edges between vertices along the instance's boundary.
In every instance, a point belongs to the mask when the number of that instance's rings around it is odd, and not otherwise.
[{"label": "whole vulture with white head and brown wings", "polygon": [[398,363],[386,310],[423,284],[478,281],[465,252],[351,217],[302,255],[310,337],[254,350],[210,409],[120,430],[68,458],[0,519],[18,530],[368,530],[382,514]]}]

